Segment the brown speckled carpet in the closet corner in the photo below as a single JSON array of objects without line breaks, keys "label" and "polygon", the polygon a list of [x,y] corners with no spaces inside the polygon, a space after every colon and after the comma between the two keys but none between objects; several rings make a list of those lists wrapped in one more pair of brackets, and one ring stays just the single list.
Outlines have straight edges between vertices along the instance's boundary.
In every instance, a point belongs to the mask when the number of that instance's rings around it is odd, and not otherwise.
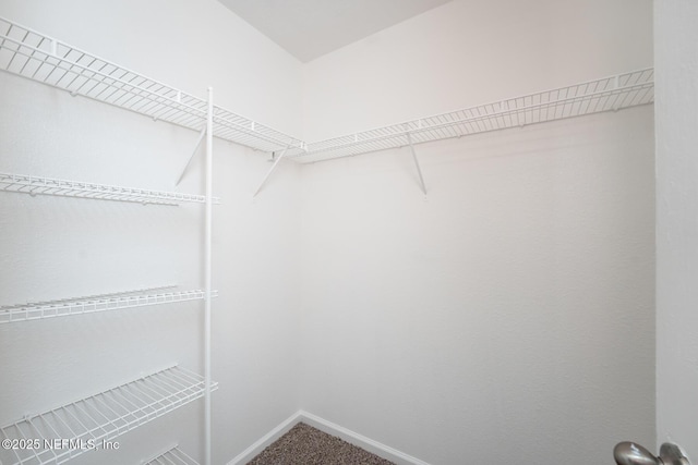
[{"label": "brown speckled carpet in the closet corner", "polygon": [[395,465],[339,438],[299,423],[248,465]]}]

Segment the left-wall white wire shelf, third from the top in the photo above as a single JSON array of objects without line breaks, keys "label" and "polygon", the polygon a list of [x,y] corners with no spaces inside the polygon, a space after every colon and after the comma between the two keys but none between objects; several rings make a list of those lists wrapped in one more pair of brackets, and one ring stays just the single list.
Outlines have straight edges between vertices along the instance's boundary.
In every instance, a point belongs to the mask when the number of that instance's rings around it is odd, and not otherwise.
[{"label": "left-wall white wire shelf, third from the top", "polygon": [[[151,305],[173,304],[178,302],[203,301],[206,298],[206,293],[201,290],[157,292],[173,287],[176,286],[151,287],[122,293],[2,306],[0,307],[0,325],[43,318],[94,314],[98,311],[122,310]],[[217,296],[218,291],[213,291],[212,297]]]}]

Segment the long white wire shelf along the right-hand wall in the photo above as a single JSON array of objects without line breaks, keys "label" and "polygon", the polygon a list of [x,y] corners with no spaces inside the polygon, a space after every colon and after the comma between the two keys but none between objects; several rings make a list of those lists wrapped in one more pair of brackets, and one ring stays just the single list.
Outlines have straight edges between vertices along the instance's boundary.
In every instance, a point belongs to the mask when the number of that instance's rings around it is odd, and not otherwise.
[{"label": "long white wire shelf along the right-hand wall", "polygon": [[407,121],[385,127],[309,143],[304,152],[288,156],[312,162],[399,148],[542,123],[654,101],[654,72],[645,69],[493,103]]}]

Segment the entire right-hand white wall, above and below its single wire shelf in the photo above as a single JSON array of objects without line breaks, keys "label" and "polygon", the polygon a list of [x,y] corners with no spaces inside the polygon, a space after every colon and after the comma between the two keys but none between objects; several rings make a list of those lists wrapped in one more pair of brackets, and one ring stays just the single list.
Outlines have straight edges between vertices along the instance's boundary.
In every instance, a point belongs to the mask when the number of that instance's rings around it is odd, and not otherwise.
[{"label": "entire right-hand white wall, above and below its single wire shelf", "polygon": [[[651,27],[649,1],[456,1],[310,63],[306,135],[651,66]],[[406,150],[304,167],[302,408],[433,464],[652,443],[652,125],[419,146],[426,201]]]}]

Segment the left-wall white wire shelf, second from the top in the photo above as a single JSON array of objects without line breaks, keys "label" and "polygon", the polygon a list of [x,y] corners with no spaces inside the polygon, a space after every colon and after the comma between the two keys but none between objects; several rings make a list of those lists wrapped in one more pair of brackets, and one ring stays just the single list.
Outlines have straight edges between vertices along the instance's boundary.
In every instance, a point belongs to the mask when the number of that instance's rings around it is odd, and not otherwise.
[{"label": "left-wall white wire shelf, second from the top", "polygon": [[[147,191],[13,173],[0,173],[0,191],[29,194],[32,196],[52,195],[59,197],[131,201],[143,205],[177,206],[184,203],[204,204],[206,201],[206,197],[203,195]],[[213,200],[214,204],[220,204],[220,198],[218,197],[214,197]]]}]

